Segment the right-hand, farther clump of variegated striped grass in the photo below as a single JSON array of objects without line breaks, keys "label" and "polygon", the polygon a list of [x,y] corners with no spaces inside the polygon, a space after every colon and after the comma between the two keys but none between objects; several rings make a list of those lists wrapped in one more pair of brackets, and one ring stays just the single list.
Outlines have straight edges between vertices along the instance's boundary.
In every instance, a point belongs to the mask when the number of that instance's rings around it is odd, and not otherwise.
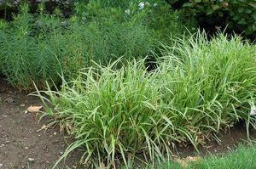
[{"label": "right-hand, farther clump of variegated striped grass", "polygon": [[206,39],[202,33],[164,46],[160,63],[166,114],[195,145],[247,120],[256,97],[255,45],[224,34]]}]

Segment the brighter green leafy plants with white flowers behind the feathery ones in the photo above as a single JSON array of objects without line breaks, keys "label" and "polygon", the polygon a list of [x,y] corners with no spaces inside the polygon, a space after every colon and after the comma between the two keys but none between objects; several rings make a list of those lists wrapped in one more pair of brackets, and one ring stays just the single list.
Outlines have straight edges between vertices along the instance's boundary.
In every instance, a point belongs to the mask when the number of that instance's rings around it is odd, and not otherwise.
[{"label": "brighter green leafy plants with white flowers behind the feathery ones", "polygon": [[[157,41],[169,40],[169,37],[183,35],[186,29],[192,31],[196,27],[192,17],[186,20],[182,11],[174,11],[172,7],[162,0],[140,2],[92,0],[90,3],[75,3],[76,14],[85,21],[102,20],[107,22],[144,25],[149,28],[148,34]],[[109,15],[111,19],[109,20]],[[105,22],[103,22],[104,24]]]}]

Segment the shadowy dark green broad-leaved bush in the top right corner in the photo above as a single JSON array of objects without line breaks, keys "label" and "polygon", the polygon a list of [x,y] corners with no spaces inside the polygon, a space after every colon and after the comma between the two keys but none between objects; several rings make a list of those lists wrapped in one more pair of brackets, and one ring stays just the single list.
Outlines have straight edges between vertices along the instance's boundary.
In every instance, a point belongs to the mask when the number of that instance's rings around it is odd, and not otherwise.
[{"label": "shadowy dark green broad-leaved bush in the top right corner", "polygon": [[[202,27],[208,30],[215,26],[227,26],[229,31],[242,33],[255,39],[256,36],[256,2],[254,0],[168,0],[177,8],[185,8],[197,15]],[[212,26],[212,28],[210,28]],[[219,28],[218,28],[219,30]]]}]

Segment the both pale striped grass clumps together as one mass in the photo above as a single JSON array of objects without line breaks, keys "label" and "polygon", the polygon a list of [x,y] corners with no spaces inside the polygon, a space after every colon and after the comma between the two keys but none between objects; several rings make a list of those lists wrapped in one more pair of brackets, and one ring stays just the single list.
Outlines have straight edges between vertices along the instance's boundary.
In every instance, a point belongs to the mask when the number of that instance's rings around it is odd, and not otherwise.
[{"label": "both pale striped grass clumps together as one mass", "polygon": [[224,35],[208,42],[198,34],[163,48],[156,70],[148,72],[144,60],[117,70],[117,61],[81,70],[60,91],[44,92],[49,99],[38,93],[54,107],[45,104],[44,115],[77,140],[62,158],[82,146],[84,164],[129,166],[143,155],[162,161],[172,144],[196,148],[236,121],[253,124],[255,46]]}]

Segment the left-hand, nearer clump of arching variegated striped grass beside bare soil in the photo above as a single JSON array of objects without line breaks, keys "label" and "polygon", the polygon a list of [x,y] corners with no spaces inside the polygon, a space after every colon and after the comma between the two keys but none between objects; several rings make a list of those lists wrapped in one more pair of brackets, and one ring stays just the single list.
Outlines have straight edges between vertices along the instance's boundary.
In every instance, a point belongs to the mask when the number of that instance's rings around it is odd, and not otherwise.
[{"label": "left-hand, nearer clump of arching variegated striped grass beside bare soil", "polygon": [[119,70],[114,68],[119,62],[81,70],[80,76],[65,82],[61,91],[45,92],[55,107],[45,115],[53,115],[54,122],[60,122],[77,139],[67,152],[84,146],[84,163],[107,160],[108,166],[118,162],[119,157],[127,165],[128,154],[133,159],[135,153],[145,149],[152,158],[161,154],[154,139],[165,144],[158,132],[165,132],[168,125],[159,128],[165,120],[160,113],[158,74],[149,74],[143,61]]}]

